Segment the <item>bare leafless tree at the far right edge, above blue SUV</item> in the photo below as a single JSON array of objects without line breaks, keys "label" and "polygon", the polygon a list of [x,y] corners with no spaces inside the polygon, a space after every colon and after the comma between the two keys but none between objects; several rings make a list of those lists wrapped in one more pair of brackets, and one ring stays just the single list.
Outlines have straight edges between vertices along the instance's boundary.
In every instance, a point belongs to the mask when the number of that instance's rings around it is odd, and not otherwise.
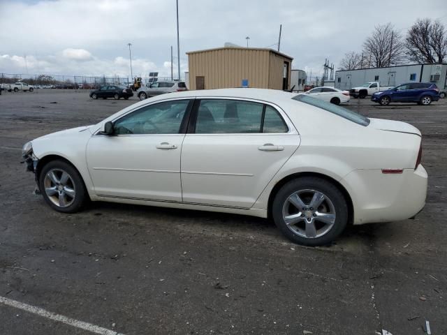
[{"label": "bare leafless tree at the far right edge, above blue SUV", "polygon": [[439,21],[417,20],[405,38],[406,55],[417,63],[442,63],[447,56],[446,27]]}]

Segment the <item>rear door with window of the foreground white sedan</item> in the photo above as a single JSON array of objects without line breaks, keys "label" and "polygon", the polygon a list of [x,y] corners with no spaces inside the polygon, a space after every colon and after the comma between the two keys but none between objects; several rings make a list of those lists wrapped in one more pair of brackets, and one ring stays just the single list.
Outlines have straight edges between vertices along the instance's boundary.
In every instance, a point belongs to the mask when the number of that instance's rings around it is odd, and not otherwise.
[{"label": "rear door with window of the foreground white sedan", "polygon": [[300,144],[272,105],[196,101],[182,147],[183,201],[250,208]]}]

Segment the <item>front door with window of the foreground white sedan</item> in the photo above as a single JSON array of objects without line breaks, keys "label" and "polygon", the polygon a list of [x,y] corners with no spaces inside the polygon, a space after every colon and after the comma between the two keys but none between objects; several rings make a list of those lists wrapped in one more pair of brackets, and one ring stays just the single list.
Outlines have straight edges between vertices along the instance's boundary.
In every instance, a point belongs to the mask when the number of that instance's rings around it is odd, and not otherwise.
[{"label": "front door with window of the foreground white sedan", "polygon": [[87,165],[97,195],[182,201],[181,130],[190,100],[153,103],[114,122],[115,135],[93,135]]}]

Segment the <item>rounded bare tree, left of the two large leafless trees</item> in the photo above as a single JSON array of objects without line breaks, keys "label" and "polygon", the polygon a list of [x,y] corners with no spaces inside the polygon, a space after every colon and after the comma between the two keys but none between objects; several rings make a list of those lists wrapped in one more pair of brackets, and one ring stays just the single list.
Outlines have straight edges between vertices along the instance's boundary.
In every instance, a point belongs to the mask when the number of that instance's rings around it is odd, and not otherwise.
[{"label": "rounded bare tree, left of the two large leafless trees", "polygon": [[363,43],[363,54],[368,60],[368,67],[383,68],[400,64],[403,50],[402,34],[390,23],[376,26],[372,35]]}]

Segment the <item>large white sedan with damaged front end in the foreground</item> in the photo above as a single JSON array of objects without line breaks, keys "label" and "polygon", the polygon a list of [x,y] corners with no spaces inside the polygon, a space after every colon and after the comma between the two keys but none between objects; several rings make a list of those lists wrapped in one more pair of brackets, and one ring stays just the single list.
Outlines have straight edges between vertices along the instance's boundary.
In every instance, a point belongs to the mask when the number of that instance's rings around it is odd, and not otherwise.
[{"label": "large white sedan with damaged front end in the foreground", "polygon": [[23,156],[57,211],[101,200],[246,214],[309,246],[347,223],[411,218],[427,192],[417,128],[266,89],[156,96]]}]

